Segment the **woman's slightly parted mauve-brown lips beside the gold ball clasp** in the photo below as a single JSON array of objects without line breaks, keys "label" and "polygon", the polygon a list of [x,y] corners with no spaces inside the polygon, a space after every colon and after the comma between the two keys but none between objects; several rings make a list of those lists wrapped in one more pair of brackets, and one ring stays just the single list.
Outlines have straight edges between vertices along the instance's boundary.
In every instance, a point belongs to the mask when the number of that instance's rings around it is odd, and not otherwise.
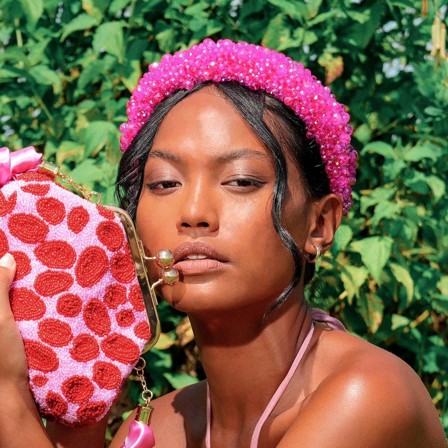
[{"label": "woman's slightly parted mauve-brown lips beside the gold ball clasp", "polygon": [[223,254],[202,241],[183,243],[173,251],[175,263],[184,275],[201,275],[224,269],[229,263]]}]

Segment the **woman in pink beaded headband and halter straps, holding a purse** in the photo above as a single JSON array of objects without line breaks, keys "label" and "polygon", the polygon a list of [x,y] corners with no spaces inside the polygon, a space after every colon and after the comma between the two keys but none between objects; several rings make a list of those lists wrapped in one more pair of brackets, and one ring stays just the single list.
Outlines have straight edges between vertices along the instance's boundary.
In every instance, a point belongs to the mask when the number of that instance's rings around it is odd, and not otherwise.
[{"label": "woman in pink beaded headband and halter straps, holding a purse", "polygon": [[[148,252],[174,250],[181,281],[162,296],[189,314],[207,375],[151,403],[156,447],[445,447],[414,371],[305,301],[313,262],[330,248],[351,205],[356,153],[348,116],[343,109],[333,116],[340,105],[300,70],[301,101],[294,103],[285,86],[297,78],[284,56],[220,42],[177,55],[181,66],[164,57],[169,76],[142,78],[122,127],[118,197]],[[214,72],[211,62],[237,67],[235,78]],[[192,87],[185,72],[194,63],[202,72]],[[157,89],[168,97],[160,102]],[[1,389],[8,391],[5,416],[15,416],[3,419],[2,440],[102,446],[106,418],[82,430],[50,424],[48,436],[39,424],[7,302],[14,263],[6,256],[0,265]],[[17,435],[18,421],[30,422],[27,435]]]}]

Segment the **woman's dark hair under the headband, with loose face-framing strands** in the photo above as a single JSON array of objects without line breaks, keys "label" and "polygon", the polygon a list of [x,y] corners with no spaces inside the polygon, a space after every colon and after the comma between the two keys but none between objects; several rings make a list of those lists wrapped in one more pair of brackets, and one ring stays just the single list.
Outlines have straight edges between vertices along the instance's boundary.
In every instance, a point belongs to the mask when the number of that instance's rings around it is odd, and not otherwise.
[{"label": "woman's dark hair under the headband, with loose face-framing strands", "polygon": [[[143,168],[160,123],[175,104],[207,85],[215,86],[224,98],[233,104],[271,151],[275,168],[271,217],[276,232],[293,257],[294,272],[290,284],[272,303],[269,312],[280,306],[289,296],[299,283],[303,271],[300,249],[282,223],[281,208],[288,186],[286,157],[290,155],[296,165],[307,199],[319,199],[330,193],[319,145],[314,138],[306,138],[303,121],[284,103],[261,90],[250,90],[241,86],[238,82],[201,82],[190,90],[173,92],[155,107],[121,158],[116,180],[116,198],[120,206],[135,219],[143,185]],[[313,276],[314,264],[306,263],[304,284],[308,284]]]}]

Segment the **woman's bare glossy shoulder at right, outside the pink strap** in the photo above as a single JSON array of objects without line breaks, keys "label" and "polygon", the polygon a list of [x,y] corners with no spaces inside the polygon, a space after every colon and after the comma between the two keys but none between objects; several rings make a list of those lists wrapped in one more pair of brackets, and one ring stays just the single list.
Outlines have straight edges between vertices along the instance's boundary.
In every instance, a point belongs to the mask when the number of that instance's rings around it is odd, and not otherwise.
[{"label": "woman's bare glossy shoulder at right, outside the pink strap", "polygon": [[333,350],[329,357],[335,362],[279,448],[291,446],[298,435],[300,447],[307,448],[446,447],[435,407],[414,370],[357,336],[337,330],[322,336],[316,351],[323,357]]}]

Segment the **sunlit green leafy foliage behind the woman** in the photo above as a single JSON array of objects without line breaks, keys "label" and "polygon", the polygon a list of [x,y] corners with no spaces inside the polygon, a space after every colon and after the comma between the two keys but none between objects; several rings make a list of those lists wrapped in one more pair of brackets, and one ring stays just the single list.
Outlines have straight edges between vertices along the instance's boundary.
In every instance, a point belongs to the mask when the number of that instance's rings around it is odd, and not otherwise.
[{"label": "sunlit green leafy foliage behind the woman", "polygon": [[[0,143],[36,146],[112,202],[125,103],[164,53],[246,40],[336,78],[358,181],[307,294],[408,362],[448,431],[448,62],[429,56],[444,4],[421,17],[414,0],[0,0]],[[155,395],[204,377],[188,319],[159,312],[164,334],[146,355]],[[134,379],[112,432],[138,401]]]}]

